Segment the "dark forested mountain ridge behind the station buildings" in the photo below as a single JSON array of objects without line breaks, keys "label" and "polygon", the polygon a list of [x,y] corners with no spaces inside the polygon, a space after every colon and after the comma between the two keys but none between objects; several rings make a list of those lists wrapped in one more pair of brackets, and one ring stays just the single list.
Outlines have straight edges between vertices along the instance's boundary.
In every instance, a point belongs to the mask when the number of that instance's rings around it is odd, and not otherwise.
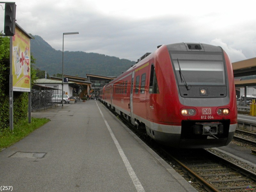
[{"label": "dark forested mountain ridge behind the station buildings", "polygon": [[[40,36],[31,39],[30,50],[36,59],[36,68],[46,71],[50,76],[62,73],[62,51],[55,50]],[[119,59],[99,53],[64,52],[64,74],[86,76],[88,74],[101,76],[118,76],[126,71],[134,61]]]}]

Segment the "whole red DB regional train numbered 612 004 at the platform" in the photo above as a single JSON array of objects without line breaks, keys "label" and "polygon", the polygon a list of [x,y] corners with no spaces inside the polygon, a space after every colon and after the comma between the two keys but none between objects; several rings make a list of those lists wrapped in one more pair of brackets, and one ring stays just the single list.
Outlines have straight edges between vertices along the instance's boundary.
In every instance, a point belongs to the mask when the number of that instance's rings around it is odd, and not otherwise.
[{"label": "whole red DB regional train numbered 612 004 at the platform", "polygon": [[236,130],[232,65],[219,46],[160,45],[99,96],[153,140],[174,148],[226,146]]}]

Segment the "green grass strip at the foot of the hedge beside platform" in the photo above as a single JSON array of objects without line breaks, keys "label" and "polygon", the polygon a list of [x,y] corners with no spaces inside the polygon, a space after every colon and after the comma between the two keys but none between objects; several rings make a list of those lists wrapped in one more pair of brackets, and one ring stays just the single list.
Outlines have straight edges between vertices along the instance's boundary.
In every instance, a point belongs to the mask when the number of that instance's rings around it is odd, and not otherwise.
[{"label": "green grass strip at the foot of the hedge beside platform", "polygon": [[17,141],[23,139],[29,133],[33,132],[49,121],[50,119],[47,118],[31,117],[30,124],[28,123],[28,119],[24,119],[13,125],[13,131],[10,131],[9,127],[0,130],[0,151],[2,148],[7,148]]}]

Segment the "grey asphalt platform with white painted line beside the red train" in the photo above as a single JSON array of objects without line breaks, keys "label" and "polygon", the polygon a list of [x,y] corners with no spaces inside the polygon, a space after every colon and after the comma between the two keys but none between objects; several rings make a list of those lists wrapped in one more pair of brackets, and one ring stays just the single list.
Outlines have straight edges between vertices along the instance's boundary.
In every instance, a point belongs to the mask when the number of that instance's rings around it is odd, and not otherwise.
[{"label": "grey asphalt platform with white painted line beside the red train", "polygon": [[196,191],[97,100],[33,117],[51,121],[0,152],[13,191]]}]

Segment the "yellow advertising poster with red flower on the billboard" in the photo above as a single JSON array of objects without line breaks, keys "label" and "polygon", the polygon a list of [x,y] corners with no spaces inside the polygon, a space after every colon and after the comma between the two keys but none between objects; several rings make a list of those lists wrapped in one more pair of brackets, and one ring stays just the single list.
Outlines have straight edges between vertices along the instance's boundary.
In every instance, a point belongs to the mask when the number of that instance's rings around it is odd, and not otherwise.
[{"label": "yellow advertising poster with red flower on the billboard", "polygon": [[13,91],[30,92],[30,38],[17,27],[11,38]]}]

